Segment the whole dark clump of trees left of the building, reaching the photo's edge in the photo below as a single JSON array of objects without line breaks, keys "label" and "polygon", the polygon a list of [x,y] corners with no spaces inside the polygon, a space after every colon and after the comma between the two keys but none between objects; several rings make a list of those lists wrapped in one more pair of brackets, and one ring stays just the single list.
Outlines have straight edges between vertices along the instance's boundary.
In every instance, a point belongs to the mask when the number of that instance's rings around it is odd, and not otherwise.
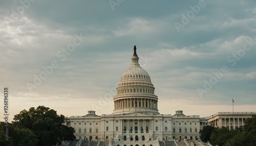
[{"label": "whole dark clump of trees left of the building, reaching the photo's edge", "polygon": [[65,116],[45,106],[22,110],[13,120],[8,124],[8,141],[6,124],[0,122],[0,145],[55,145],[62,140],[75,139],[74,128],[63,125]]}]

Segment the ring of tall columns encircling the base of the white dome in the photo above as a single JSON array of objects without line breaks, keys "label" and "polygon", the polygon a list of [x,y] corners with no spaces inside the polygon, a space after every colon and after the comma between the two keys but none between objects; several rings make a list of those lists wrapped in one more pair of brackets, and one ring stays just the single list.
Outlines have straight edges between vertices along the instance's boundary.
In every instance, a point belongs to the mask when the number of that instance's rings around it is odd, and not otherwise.
[{"label": "ring of tall columns encircling the base of the white dome", "polygon": [[152,108],[158,109],[158,101],[154,99],[146,98],[130,98],[130,99],[120,99],[114,101],[114,108]]}]

